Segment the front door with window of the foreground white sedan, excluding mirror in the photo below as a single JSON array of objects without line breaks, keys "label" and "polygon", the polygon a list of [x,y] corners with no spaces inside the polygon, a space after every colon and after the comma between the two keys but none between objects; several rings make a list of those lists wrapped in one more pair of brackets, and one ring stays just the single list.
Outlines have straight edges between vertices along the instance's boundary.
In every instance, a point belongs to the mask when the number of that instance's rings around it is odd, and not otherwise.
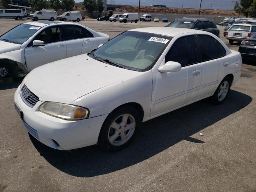
[{"label": "front door with window of the foreground white sedan, excluding mirror", "polygon": [[201,64],[198,63],[195,34],[178,38],[161,65],[168,61],[181,64],[178,72],[153,72],[152,107],[150,116],[174,109],[197,98]]}]

